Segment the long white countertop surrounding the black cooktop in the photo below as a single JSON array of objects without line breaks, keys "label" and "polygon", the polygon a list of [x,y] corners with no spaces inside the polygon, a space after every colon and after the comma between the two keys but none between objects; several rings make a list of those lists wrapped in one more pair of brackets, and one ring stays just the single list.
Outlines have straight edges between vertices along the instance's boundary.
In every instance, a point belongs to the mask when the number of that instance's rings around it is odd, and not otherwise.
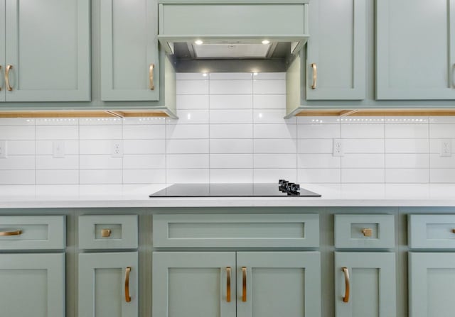
[{"label": "long white countertop surrounding the black cooktop", "polygon": [[301,184],[322,196],[149,198],[164,187],[0,186],[0,208],[455,206],[455,184]]}]

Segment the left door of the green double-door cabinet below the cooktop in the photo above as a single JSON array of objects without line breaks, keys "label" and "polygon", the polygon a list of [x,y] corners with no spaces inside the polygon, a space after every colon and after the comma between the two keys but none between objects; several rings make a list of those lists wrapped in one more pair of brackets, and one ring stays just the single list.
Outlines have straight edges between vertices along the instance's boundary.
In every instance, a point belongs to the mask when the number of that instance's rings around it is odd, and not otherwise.
[{"label": "left door of the green double-door cabinet below the cooktop", "polygon": [[235,252],[154,252],[152,316],[236,317],[235,273]]}]

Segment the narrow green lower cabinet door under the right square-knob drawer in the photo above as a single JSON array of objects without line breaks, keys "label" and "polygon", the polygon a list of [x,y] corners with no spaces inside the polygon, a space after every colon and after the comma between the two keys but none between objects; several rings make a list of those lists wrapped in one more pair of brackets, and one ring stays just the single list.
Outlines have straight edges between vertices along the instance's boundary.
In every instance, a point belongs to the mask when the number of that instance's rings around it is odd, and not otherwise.
[{"label": "narrow green lower cabinet door under the right square-knob drawer", "polygon": [[335,252],[336,317],[397,316],[396,288],[395,253]]}]

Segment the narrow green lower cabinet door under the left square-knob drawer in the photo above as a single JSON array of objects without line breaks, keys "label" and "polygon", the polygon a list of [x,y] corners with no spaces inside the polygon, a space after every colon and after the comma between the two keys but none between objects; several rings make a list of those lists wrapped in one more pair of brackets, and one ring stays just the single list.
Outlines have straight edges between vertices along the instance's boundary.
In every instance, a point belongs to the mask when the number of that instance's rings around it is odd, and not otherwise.
[{"label": "narrow green lower cabinet door under the left square-knob drawer", "polygon": [[137,252],[80,254],[79,316],[139,316],[137,275]]}]

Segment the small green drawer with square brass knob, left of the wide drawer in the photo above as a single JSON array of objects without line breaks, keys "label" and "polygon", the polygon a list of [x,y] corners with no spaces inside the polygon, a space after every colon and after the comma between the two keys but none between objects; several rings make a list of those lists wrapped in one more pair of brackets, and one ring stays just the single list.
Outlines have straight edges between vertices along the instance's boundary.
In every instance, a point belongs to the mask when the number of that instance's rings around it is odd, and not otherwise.
[{"label": "small green drawer with square brass knob, left of the wide drawer", "polygon": [[137,215],[79,217],[79,248],[137,248]]}]

